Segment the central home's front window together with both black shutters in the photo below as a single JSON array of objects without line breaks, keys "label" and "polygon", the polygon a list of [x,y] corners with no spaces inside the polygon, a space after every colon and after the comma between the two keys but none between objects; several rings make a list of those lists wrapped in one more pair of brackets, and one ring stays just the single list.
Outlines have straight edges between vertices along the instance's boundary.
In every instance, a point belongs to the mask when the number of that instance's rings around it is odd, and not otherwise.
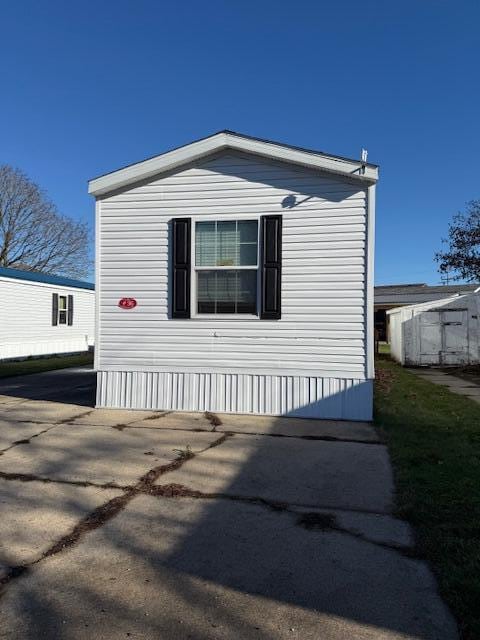
[{"label": "central home's front window together with both black shutters", "polygon": [[175,218],[172,225],[173,318],[280,319],[281,216],[195,222]]}]

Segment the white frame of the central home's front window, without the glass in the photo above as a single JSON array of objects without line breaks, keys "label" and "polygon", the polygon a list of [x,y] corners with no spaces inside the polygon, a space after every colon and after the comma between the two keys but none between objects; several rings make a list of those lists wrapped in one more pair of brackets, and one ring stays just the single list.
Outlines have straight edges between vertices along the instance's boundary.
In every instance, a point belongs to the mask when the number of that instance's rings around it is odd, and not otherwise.
[{"label": "white frame of the central home's front window, without the glass", "polygon": [[[196,227],[197,222],[256,222],[257,223],[257,266],[222,266],[203,267],[196,265]],[[197,271],[237,271],[246,270],[257,272],[256,313],[198,313],[197,311]],[[260,320],[260,216],[233,214],[229,216],[192,217],[191,246],[190,246],[190,317],[196,320]]]}]

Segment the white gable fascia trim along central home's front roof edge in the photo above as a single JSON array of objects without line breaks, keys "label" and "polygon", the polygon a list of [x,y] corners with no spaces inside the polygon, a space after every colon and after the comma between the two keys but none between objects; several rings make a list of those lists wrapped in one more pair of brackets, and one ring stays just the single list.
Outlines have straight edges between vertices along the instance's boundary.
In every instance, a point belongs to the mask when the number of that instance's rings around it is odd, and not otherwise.
[{"label": "white gable fascia trim along central home's front roof edge", "polygon": [[180,149],[168,151],[160,156],[94,178],[88,183],[88,192],[94,196],[101,196],[227,148],[348,176],[370,184],[378,180],[378,168],[366,165],[362,171],[360,161],[344,160],[323,154],[317,155],[275,143],[251,140],[229,133],[217,133]]}]

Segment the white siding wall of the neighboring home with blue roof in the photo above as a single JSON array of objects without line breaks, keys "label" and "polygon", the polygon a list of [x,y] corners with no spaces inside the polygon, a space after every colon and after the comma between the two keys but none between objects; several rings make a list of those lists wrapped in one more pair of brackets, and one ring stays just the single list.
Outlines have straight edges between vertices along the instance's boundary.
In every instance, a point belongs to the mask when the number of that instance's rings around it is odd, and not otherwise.
[{"label": "white siding wall of the neighboring home with blue roof", "polygon": [[[52,294],[73,295],[73,325],[52,326]],[[86,351],[94,342],[95,292],[0,277],[0,360]]]}]

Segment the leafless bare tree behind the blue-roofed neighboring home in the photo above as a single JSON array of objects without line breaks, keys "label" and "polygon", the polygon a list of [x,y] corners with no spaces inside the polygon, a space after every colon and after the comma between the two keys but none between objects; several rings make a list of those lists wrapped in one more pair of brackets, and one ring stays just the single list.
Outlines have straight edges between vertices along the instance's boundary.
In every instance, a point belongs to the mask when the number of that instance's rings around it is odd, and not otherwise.
[{"label": "leafless bare tree behind the blue-roofed neighboring home", "polygon": [[0,166],[0,267],[83,277],[88,226],[61,215],[22,171]]}]

